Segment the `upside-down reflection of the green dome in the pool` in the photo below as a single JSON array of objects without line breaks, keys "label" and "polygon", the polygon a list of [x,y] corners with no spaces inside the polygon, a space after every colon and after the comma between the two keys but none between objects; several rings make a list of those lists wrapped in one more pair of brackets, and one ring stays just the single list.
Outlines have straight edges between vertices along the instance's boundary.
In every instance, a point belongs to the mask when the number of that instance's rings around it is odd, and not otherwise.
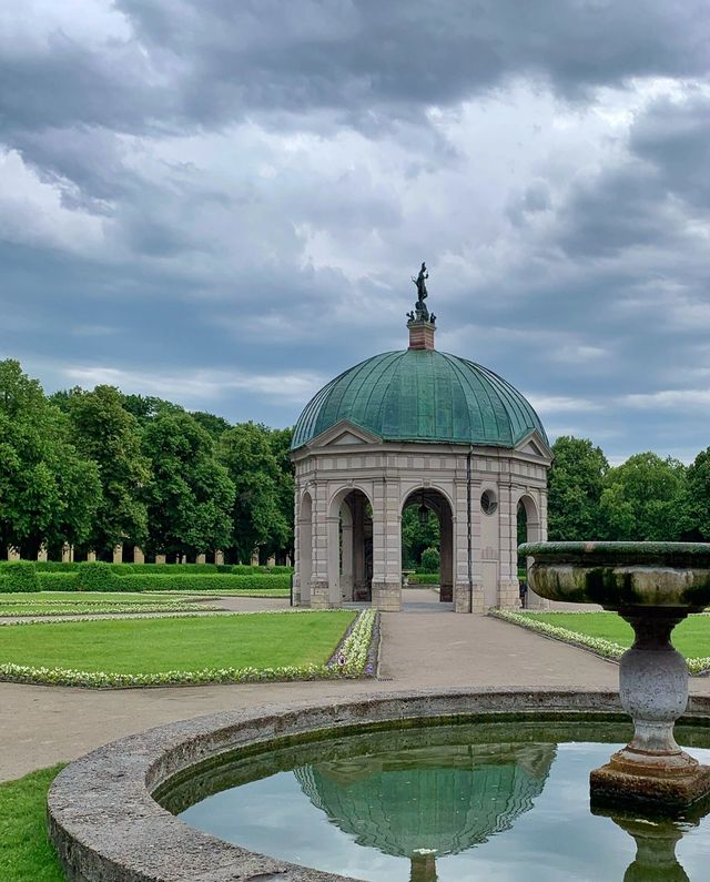
[{"label": "upside-down reflection of the green dome in the pool", "polygon": [[444,744],[303,766],[311,802],[358,845],[410,861],[434,882],[436,859],[513,827],[532,807],[554,744]]}]

